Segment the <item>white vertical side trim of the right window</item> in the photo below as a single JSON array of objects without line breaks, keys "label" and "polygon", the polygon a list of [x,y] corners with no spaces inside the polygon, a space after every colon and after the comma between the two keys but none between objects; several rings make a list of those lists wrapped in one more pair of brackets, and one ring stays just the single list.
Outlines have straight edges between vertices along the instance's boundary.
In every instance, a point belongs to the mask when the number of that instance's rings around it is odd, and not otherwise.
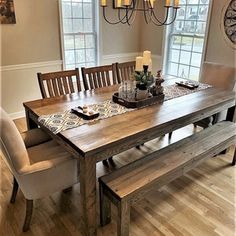
[{"label": "white vertical side trim of the right window", "polygon": [[[201,64],[200,64],[200,75],[201,75],[201,70],[202,70],[202,65],[206,59],[206,51],[207,51],[207,44],[208,44],[208,36],[209,36],[209,27],[210,27],[210,23],[211,23],[211,15],[212,15],[212,4],[213,4],[213,0],[209,0],[209,9],[208,9],[208,15],[207,15],[207,22],[206,22],[206,32],[205,32],[205,40],[204,40],[204,44],[203,44],[203,51],[202,51],[202,60],[201,60]],[[165,29],[163,30],[163,44],[162,44],[162,71],[163,71],[163,75],[166,75],[166,69],[167,69],[167,60],[168,60],[168,46],[169,46],[169,40],[170,40],[170,33],[169,33],[169,27],[165,27]],[[171,78],[171,76],[166,77]]]}]

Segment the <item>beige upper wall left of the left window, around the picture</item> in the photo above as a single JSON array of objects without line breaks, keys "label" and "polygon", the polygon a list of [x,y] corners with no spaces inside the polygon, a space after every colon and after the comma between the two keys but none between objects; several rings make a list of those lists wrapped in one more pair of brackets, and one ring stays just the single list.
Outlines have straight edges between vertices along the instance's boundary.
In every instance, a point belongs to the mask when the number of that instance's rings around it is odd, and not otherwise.
[{"label": "beige upper wall left of the left window, around the picture", "polygon": [[61,59],[57,0],[15,0],[16,24],[0,25],[2,64]]}]

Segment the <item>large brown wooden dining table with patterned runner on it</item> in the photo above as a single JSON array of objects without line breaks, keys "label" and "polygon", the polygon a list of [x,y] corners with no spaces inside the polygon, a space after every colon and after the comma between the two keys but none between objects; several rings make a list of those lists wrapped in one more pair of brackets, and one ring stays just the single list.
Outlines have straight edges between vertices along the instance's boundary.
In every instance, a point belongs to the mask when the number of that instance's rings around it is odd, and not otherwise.
[{"label": "large brown wooden dining table with patterned runner on it", "polygon": [[[176,81],[178,79],[167,79],[164,86],[175,84]],[[40,126],[79,159],[80,209],[84,235],[97,234],[97,162],[220,111],[227,110],[226,120],[235,120],[235,92],[209,87],[56,134],[39,122],[42,115],[111,100],[118,88],[119,85],[112,85],[23,104],[28,129]]]}]

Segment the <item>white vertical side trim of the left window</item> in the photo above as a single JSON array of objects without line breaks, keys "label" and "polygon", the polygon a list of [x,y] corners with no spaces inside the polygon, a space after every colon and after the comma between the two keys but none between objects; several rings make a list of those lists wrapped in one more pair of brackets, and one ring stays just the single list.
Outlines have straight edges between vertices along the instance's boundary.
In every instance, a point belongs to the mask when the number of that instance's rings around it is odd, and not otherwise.
[{"label": "white vertical side trim of the left window", "polygon": [[[61,37],[61,55],[62,55],[62,68],[63,70],[66,69],[66,65],[65,65],[65,44],[64,44],[64,30],[63,30],[63,19],[62,19],[62,0],[59,0],[59,22],[60,22],[60,37]],[[95,1],[95,14],[96,14],[96,19],[97,22],[94,20],[94,26],[95,26],[95,30],[96,30],[96,38],[95,38],[95,44],[96,44],[96,59],[97,59],[97,64],[100,64],[101,61],[101,38],[100,38],[100,18],[99,18],[99,2]]]}]

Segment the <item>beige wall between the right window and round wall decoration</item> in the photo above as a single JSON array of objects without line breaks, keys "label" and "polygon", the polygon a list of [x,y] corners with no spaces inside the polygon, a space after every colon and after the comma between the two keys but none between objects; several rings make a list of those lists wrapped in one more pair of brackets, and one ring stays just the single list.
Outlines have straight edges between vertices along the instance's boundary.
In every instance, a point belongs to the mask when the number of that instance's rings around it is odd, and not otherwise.
[{"label": "beige wall between the right window and round wall decoration", "polygon": [[220,28],[222,10],[225,4],[229,2],[229,0],[213,1],[205,60],[236,67],[236,51],[226,42],[224,33]]}]

